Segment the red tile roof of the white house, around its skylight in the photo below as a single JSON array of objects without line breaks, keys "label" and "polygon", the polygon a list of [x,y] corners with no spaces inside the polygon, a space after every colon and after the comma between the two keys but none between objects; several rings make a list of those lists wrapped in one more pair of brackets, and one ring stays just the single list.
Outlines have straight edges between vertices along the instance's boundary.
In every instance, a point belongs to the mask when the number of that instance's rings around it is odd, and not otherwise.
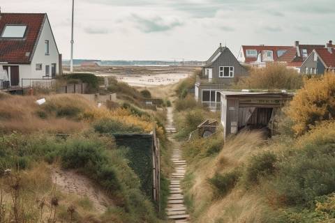
[{"label": "red tile roof of the white house, around its skylight", "polygon": [[[6,24],[27,25],[23,39],[0,38],[0,62],[30,63],[37,44],[40,29],[46,14],[42,13],[1,13],[0,33]],[[28,56],[29,54],[29,56]]]}]

